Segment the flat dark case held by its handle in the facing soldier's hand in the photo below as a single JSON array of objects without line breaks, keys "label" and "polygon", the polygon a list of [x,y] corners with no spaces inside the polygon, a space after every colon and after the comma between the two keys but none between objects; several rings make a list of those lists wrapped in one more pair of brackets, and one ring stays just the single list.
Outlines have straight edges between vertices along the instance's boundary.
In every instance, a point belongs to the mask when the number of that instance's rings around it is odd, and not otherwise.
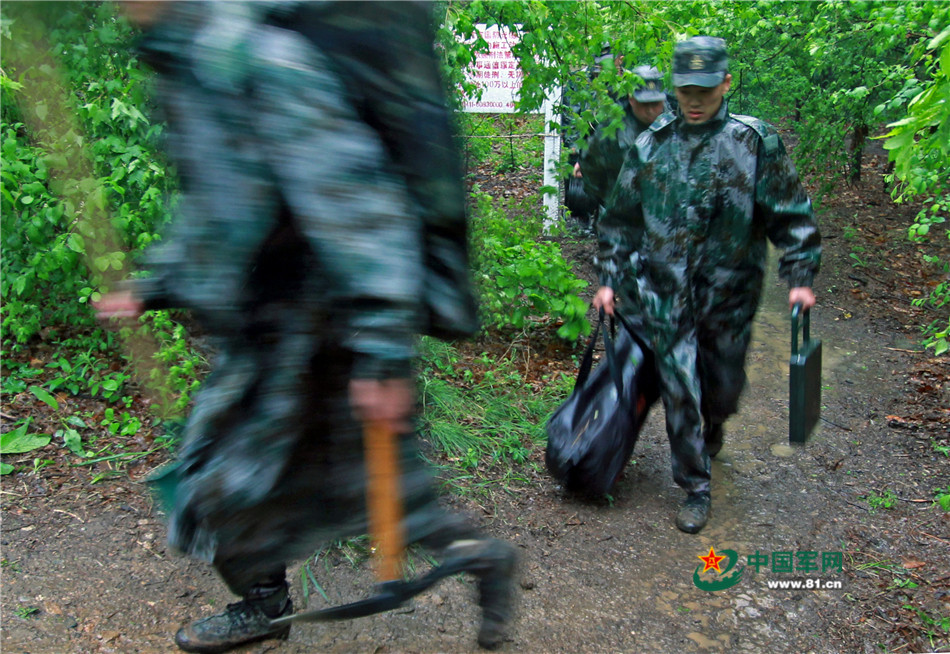
[{"label": "flat dark case held by its handle in the facing soldier's hand", "polygon": [[[808,440],[821,415],[821,341],[811,338],[809,312],[792,308],[792,357],[789,359],[788,441]],[[802,342],[798,345],[798,318]]]}]

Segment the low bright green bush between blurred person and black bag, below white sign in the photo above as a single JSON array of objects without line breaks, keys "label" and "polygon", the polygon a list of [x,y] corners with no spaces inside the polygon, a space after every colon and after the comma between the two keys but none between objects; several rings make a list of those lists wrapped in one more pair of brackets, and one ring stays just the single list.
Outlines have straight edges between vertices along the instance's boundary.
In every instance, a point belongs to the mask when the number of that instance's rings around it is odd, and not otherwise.
[{"label": "low bright green bush between blurred person and black bag, below white sign", "polygon": [[487,324],[528,329],[554,323],[558,335],[574,340],[590,332],[587,303],[560,247],[539,240],[538,211],[506,215],[492,198],[473,191],[472,259],[475,284]]}]

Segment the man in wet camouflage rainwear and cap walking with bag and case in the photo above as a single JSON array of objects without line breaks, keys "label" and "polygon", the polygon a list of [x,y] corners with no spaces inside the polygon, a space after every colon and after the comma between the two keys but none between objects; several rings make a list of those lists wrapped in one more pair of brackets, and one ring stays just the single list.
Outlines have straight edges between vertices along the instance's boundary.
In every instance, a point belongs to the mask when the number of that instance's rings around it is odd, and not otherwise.
[{"label": "man in wet camouflage rainwear and cap walking with bag and case", "polygon": [[679,109],[636,141],[598,225],[602,287],[642,322],[666,408],[673,478],[687,492],[676,525],[705,526],[710,457],[738,408],[745,355],[761,294],[767,241],[784,250],[789,305],[815,303],[821,238],[811,203],[776,131],[729,113],[725,42],[677,44]]}]

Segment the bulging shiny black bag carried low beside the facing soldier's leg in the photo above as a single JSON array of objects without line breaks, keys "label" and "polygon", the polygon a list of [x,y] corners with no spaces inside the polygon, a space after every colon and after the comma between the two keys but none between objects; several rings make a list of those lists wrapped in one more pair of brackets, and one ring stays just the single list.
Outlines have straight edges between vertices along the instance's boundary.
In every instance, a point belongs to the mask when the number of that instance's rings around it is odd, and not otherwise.
[{"label": "bulging shiny black bag carried low beside the facing soldier's leg", "polygon": [[[623,327],[614,341],[601,312],[574,391],[547,423],[545,463],[572,492],[603,495],[610,491],[659,395],[652,353],[629,322],[620,319]],[[592,372],[594,346],[601,334],[604,361]]]}]

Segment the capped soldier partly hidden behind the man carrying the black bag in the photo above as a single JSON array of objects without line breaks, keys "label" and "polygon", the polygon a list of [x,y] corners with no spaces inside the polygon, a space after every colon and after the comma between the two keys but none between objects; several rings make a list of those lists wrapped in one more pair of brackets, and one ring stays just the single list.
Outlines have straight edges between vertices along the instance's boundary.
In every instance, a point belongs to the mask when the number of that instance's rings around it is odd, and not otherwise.
[{"label": "capped soldier partly hidden behind the man carrying the black bag", "polygon": [[667,109],[660,71],[654,66],[637,66],[633,73],[641,84],[624,103],[623,125],[612,135],[608,124],[598,125],[575,166],[575,175],[583,176],[584,188],[600,205],[617,181],[637,137]]}]

